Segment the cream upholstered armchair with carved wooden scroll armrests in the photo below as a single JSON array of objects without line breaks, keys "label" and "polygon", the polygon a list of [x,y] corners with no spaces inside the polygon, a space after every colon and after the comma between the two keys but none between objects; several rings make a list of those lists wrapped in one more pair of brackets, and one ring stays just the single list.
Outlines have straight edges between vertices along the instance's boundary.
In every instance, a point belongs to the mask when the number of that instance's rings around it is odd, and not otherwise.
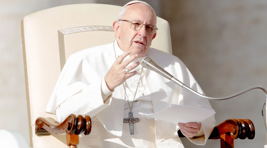
[{"label": "cream upholstered armchair with carved wooden scroll armrests", "polygon": [[[45,9],[23,18],[21,34],[31,147],[65,147],[66,143],[76,147],[79,144],[77,135],[90,133],[89,116],[69,115],[58,123],[55,115],[45,112],[45,107],[72,53],[114,41],[111,25],[120,8],[74,4]],[[157,27],[158,35],[151,47],[172,53],[169,23],[157,17]],[[226,147],[227,144],[233,147],[233,139],[253,139],[255,130],[250,120],[229,119],[215,127],[213,133],[211,139],[222,139]],[[179,136],[183,135],[179,133]]]}]

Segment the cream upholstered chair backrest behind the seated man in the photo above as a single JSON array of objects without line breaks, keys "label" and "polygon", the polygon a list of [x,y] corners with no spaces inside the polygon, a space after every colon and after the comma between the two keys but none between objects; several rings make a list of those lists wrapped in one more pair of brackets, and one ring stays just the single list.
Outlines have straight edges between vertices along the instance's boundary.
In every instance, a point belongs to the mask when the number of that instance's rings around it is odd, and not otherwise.
[{"label": "cream upholstered chair backrest behind the seated man", "polygon": [[[27,15],[21,22],[31,147],[66,147],[65,135],[36,136],[35,120],[55,115],[45,107],[66,59],[79,50],[115,40],[112,23],[120,6],[74,4]],[[169,23],[157,17],[152,46],[172,53]]]}]

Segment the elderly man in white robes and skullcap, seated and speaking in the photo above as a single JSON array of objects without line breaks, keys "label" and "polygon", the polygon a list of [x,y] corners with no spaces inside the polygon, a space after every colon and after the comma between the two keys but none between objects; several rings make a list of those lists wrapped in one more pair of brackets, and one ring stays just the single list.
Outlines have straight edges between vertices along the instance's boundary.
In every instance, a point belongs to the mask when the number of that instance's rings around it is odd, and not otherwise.
[{"label": "elderly man in white robes and skullcap, seated and speaking", "polygon": [[182,90],[137,62],[142,56],[151,57],[187,86],[203,93],[177,57],[150,48],[157,34],[154,10],[143,1],[131,1],[120,10],[113,28],[113,43],[69,57],[46,112],[56,113],[59,121],[71,113],[92,117],[92,131],[80,137],[79,147],[183,147],[179,129],[193,143],[205,144],[216,125],[214,116],[177,125],[138,114],[159,112],[171,104],[212,109],[208,100]]}]

